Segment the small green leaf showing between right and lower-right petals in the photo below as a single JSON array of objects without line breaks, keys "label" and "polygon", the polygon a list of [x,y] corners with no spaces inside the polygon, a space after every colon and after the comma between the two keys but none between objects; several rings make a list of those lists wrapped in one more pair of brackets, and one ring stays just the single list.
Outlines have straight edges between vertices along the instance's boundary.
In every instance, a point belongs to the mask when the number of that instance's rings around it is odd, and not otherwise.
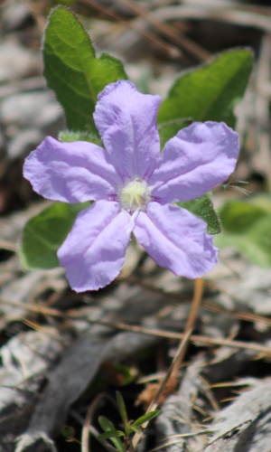
[{"label": "small green leaf showing between right and lower-right petals", "polygon": [[209,234],[218,234],[221,231],[220,221],[210,201],[209,193],[203,194],[201,198],[188,202],[177,202],[177,204],[204,220],[207,223],[207,232]]}]

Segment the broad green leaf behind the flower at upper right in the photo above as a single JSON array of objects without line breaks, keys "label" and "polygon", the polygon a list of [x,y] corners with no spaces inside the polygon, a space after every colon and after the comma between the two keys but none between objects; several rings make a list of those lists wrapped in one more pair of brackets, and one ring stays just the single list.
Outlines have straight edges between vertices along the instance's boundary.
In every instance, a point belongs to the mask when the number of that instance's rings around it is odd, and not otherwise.
[{"label": "broad green leaf behind the flower at upper right", "polygon": [[220,54],[196,71],[184,73],[162,102],[158,123],[191,118],[225,121],[234,127],[233,109],[247,88],[252,63],[250,51],[234,50]]}]

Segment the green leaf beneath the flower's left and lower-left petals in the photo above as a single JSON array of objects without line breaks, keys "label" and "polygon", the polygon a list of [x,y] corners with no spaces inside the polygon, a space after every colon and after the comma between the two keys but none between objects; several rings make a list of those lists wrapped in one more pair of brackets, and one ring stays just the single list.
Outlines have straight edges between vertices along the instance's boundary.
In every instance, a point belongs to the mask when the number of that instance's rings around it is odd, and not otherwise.
[{"label": "green leaf beneath the flower's left and lower-left petals", "polygon": [[89,202],[57,202],[29,220],[23,230],[20,259],[25,268],[59,267],[57,250],[66,239],[77,214]]}]

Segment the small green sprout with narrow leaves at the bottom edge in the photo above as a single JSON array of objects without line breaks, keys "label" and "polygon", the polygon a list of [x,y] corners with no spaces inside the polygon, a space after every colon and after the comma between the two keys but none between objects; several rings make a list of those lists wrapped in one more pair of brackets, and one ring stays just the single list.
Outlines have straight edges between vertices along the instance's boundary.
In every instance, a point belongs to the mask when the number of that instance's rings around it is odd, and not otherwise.
[{"label": "small green sprout with narrow leaves at the bottom edge", "polygon": [[99,416],[98,423],[104,430],[104,433],[99,435],[98,439],[110,439],[112,444],[116,447],[117,452],[126,452],[129,446],[130,436],[134,433],[140,433],[145,422],[154,419],[159,414],[160,410],[151,411],[135,420],[128,420],[125,401],[118,391],[116,391],[116,398],[124,430],[117,430],[111,420],[107,419],[105,416]]}]

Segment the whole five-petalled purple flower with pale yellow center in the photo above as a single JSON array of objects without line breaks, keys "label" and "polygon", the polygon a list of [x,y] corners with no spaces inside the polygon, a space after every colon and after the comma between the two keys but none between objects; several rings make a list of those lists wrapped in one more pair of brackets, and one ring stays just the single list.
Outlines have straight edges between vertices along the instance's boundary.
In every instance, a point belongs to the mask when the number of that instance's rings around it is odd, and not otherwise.
[{"label": "whole five-petalled purple flower with pale yellow center", "polygon": [[158,96],[126,80],[99,95],[94,119],[105,149],[46,137],[26,159],[24,176],[44,198],[95,201],[58,250],[77,292],[105,287],[120,272],[131,233],[162,267],[199,278],[217,262],[206,223],[173,204],[224,182],[238,155],[238,134],[224,123],[193,123],[160,154]]}]

